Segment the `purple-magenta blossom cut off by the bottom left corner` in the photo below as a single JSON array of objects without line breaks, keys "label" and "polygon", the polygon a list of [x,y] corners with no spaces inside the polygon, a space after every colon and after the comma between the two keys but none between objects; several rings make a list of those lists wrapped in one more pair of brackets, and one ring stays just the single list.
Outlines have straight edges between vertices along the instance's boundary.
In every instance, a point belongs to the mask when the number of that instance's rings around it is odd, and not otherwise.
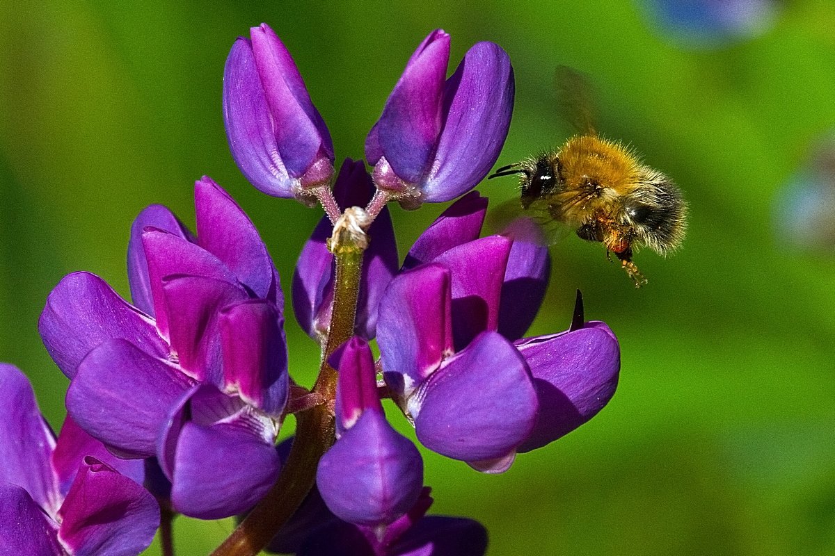
[{"label": "purple-magenta blossom cut off by the bottom left corner", "polygon": [[26,377],[0,363],[0,553],[139,554],[159,527],[142,475],[70,418],[56,443]]}]

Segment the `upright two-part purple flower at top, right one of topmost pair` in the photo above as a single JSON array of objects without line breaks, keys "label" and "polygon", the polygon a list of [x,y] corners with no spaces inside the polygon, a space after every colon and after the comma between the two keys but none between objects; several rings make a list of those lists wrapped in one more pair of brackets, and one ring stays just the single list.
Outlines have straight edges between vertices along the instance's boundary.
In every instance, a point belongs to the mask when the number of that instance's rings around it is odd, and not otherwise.
[{"label": "upright two-part purple flower at top, right one of topmost pair", "polygon": [[449,35],[423,40],[366,139],[378,188],[438,203],[467,193],[493,167],[514,105],[507,53],[477,43],[447,77]]}]

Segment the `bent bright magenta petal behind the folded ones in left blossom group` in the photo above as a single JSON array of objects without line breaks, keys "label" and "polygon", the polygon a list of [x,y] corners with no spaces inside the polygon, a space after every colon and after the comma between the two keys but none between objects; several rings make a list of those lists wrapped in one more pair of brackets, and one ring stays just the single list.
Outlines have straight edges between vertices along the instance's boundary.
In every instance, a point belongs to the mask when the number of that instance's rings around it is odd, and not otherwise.
[{"label": "bent bright magenta petal behind the folded ones in left blossom group", "polygon": [[146,228],[142,234],[142,246],[148,260],[156,327],[165,338],[169,335],[169,315],[165,307],[163,278],[172,274],[191,274],[236,282],[235,274],[219,258],[173,233]]}]

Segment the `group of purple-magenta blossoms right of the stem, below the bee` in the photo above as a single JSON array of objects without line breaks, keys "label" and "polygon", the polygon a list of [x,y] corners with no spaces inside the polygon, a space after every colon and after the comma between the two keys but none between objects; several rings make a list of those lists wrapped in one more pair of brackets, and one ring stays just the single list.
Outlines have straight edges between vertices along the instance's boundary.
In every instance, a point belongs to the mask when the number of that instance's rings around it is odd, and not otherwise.
[{"label": "group of purple-magenta blossoms right of the stem, below the bee", "polygon": [[600,411],[615,392],[620,355],[609,328],[582,317],[566,333],[516,335],[541,297],[514,296],[544,288],[514,283],[544,283],[547,253],[503,236],[477,239],[478,203],[477,193],[460,199],[417,240],[380,303],[377,342],[383,377],[417,438],[498,473],[516,452]]}]

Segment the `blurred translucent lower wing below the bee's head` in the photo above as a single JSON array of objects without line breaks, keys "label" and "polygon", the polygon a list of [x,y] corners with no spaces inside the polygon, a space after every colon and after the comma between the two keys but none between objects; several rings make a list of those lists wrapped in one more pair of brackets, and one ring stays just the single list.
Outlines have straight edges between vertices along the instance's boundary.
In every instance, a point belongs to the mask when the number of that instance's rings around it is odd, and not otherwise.
[{"label": "blurred translucent lower wing below the bee's head", "polygon": [[571,228],[554,220],[542,199],[534,200],[529,208],[522,208],[519,199],[501,203],[487,214],[487,228],[539,245],[553,245],[571,233]]}]

